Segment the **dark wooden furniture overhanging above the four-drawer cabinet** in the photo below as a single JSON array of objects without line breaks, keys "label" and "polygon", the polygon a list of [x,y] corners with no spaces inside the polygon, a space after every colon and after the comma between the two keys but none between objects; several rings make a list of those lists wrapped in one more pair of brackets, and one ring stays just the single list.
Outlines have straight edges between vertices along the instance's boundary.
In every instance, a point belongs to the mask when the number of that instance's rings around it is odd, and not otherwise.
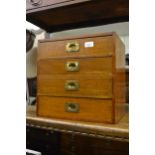
[{"label": "dark wooden furniture overhanging above the four-drawer cabinet", "polygon": [[26,6],[26,20],[47,32],[129,20],[129,0],[27,0]]}]

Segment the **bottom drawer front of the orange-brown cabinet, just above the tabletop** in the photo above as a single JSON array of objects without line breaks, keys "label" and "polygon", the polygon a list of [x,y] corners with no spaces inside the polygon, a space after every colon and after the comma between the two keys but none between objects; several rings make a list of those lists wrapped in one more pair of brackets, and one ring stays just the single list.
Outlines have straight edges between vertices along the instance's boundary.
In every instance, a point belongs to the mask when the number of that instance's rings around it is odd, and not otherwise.
[{"label": "bottom drawer front of the orange-brown cabinet, just above the tabletop", "polygon": [[38,96],[38,116],[93,122],[112,122],[112,101]]}]

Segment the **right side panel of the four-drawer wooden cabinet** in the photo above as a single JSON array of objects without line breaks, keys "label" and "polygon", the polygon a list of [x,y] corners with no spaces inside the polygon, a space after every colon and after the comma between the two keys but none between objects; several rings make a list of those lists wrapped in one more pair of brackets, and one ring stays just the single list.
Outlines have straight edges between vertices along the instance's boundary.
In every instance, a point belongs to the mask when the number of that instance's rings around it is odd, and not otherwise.
[{"label": "right side panel of the four-drawer wooden cabinet", "polygon": [[115,122],[118,122],[125,114],[125,46],[120,38],[114,34],[115,39],[115,57],[114,57],[114,109]]}]

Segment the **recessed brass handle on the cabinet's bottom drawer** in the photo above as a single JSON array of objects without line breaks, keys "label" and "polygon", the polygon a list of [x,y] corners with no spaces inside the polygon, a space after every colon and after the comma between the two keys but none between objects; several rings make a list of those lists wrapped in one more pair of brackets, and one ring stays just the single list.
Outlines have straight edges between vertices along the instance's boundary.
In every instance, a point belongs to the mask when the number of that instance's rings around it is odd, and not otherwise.
[{"label": "recessed brass handle on the cabinet's bottom drawer", "polygon": [[65,103],[66,112],[79,112],[80,106],[78,103]]}]

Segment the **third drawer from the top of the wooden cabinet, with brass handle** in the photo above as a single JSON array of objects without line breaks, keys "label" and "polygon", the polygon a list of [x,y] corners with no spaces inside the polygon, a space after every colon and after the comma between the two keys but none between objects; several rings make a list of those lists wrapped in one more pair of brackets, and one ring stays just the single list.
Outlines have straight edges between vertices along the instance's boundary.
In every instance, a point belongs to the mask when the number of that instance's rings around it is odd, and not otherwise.
[{"label": "third drawer from the top of the wooden cabinet, with brass handle", "polygon": [[39,75],[38,95],[112,98],[112,75]]}]

